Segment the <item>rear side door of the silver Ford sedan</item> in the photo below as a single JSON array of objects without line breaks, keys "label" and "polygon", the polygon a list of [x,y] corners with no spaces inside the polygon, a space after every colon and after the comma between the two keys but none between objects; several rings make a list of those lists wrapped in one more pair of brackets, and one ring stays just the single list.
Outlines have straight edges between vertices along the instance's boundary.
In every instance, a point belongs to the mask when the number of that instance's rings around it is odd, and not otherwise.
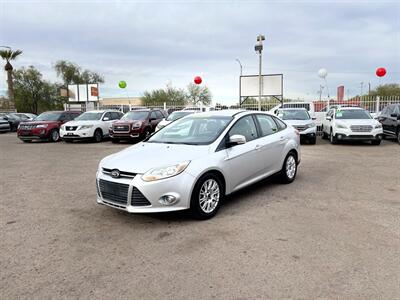
[{"label": "rear side door of the silver Ford sedan", "polygon": [[256,114],[256,120],[260,128],[258,157],[260,164],[265,167],[262,174],[269,175],[281,169],[288,137],[283,130],[279,130],[271,116]]}]

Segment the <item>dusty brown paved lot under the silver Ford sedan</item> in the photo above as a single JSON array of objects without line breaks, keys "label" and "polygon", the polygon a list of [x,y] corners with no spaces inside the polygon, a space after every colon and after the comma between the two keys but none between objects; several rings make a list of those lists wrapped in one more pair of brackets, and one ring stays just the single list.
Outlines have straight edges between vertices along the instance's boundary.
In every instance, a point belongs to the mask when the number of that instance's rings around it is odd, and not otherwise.
[{"label": "dusty brown paved lot under the silver Ford sedan", "polygon": [[15,298],[400,297],[400,147],[302,147],[296,181],[230,196],[208,221],[96,204],[127,144],[0,135],[0,293]]}]

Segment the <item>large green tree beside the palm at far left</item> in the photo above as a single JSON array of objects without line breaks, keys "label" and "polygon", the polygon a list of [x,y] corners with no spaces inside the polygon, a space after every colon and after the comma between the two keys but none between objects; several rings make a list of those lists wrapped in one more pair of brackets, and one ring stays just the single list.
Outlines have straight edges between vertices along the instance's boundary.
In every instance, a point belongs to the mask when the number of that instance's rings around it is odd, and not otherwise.
[{"label": "large green tree beside the palm at far left", "polygon": [[59,86],[43,80],[33,66],[14,71],[15,107],[18,111],[39,112],[62,109]]}]

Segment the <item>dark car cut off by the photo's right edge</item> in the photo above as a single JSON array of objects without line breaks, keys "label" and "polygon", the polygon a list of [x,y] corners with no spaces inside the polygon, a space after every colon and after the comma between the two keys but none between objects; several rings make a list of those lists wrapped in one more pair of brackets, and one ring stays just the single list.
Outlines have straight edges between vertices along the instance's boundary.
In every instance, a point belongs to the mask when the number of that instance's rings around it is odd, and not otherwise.
[{"label": "dark car cut off by the photo's right edge", "polygon": [[396,138],[400,144],[400,104],[386,106],[378,121],[382,124],[384,137]]}]

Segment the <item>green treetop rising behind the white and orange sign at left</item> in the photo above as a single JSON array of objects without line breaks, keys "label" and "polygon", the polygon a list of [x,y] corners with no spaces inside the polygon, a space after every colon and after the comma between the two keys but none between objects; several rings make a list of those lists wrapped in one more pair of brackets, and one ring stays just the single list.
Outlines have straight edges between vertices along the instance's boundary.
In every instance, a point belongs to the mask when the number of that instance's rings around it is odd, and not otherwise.
[{"label": "green treetop rising behind the white and orange sign at left", "polygon": [[104,83],[104,77],[98,73],[82,70],[80,66],[66,60],[54,64],[57,76],[61,77],[64,86],[68,84]]}]

